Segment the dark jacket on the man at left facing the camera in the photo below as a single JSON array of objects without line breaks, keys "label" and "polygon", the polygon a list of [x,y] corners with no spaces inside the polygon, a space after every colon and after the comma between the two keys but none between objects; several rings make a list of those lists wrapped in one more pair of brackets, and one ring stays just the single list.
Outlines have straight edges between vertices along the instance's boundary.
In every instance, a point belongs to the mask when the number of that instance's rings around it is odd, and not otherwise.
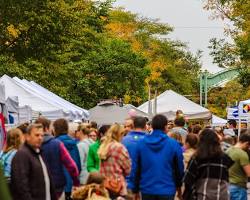
[{"label": "dark jacket on the man at left facing the camera", "polygon": [[[11,165],[13,200],[45,200],[45,181],[38,156],[39,153],[27,143],[14,156]],[[50,194],[51,200],[56,199],[51,181]]]}]

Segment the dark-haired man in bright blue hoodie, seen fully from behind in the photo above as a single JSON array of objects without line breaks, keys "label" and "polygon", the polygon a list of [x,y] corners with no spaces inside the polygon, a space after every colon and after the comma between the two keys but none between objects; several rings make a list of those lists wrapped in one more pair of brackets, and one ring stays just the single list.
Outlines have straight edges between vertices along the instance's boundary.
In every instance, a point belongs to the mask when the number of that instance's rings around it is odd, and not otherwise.
[{"label": "dark-haired man in bright blue hoodie, seen fully from behind", "polygon": [[152,119],[153,131],[137,144],[131,171],[132,191],[142,200],[174,200],[184,173],[182,149],[166,134],[168,120],[163,115]]}]

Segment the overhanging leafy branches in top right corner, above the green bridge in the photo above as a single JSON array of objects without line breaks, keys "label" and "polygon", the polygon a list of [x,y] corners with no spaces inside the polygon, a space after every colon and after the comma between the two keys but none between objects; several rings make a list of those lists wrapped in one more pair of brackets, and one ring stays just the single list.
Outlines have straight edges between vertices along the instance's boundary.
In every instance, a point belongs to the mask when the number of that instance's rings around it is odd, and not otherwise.
[{"label": "overhanging leafy branches in top right corner, above the green bridge", "polygon": [[[239,57],[241,66],[249,66],[250,63],[250,2],[249,0],[207,0],[205,9],[211,10],[215,18],[228,19],[233,23],[233,27],[227,30],[227,33],[234,40],[234,47],[225,43],[224,47],[220,47],[221,59],[226,55],[227,47],[233,49],[233,54]],[[212,41],[213,43],[215,40]],[[216,55],[218,56],[220,55]],[[220,59],[219,59],[220,60]],[[215,60],[217,62],[218,59]],[[219,62],[220,63],[220,62]]]}]

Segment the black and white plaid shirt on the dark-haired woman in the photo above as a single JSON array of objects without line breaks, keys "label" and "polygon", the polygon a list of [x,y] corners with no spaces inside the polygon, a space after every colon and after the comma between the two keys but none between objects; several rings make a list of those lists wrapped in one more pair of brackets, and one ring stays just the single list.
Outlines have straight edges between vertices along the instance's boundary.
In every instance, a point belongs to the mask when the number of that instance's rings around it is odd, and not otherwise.
[{"label": "black and white plaid shirt on the dark-haired woman", "polygon": [[192,158],[183,177],[183,199],[228,200],[228,169],[232,164],[226,154],[204,160]]}]

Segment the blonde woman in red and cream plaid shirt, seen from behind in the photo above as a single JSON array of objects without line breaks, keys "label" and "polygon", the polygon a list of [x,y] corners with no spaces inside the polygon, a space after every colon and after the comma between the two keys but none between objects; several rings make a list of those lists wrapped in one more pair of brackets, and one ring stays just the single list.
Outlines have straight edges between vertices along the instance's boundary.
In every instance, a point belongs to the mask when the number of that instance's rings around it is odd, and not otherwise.
[{"label": "blonde woman in red and cream plaid shirt, seen from behind", "polygon": [[112,125],[98,150],[100,173],[106,178],[105,186],[111,198],[127,195],[125,176],[130,173],[131,161],[127,149],[120,143],[123,135],[124,128],[121,125]]}]

